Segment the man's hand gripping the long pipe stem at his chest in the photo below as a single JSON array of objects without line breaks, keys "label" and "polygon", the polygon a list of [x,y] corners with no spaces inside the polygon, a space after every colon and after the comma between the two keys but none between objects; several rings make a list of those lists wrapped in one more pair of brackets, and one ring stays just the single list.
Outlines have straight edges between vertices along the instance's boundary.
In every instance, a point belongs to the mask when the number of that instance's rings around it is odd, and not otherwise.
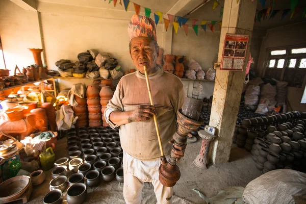
[{"label": "man's hand gripping the long pipe stem at his chest", "polygon": [[132,111],[129,117],[129,122],[149,120],[154,115],[156,115],[156,109],[154,106],[141,105],[135,111]]}]

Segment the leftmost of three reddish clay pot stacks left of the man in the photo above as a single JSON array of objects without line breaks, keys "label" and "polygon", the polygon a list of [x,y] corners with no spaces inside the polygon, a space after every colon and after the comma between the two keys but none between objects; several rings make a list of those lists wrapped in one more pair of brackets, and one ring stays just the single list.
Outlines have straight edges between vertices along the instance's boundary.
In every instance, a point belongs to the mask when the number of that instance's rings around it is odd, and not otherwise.
[{"label": "leftmost of three reddish clay pot stacks left of the man", "polygon": [[74,95],[75,101],[78,102],[78,106],[72,107],[74,111],[74,116],[78,116],[77,123],[75,123],[76,127],[88,126],[88,111],[86,106],[86,96],[81,98],[77,95]]}]

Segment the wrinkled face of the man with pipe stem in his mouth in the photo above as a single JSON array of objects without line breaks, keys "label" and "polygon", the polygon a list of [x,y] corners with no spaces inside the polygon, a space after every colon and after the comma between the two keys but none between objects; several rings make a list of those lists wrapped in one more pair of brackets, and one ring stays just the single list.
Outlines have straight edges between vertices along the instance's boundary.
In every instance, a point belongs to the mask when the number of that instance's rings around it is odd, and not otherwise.
[{"label": "wrinkled face of the man with pipe stem in his mouth", "polygon": [[136,68],[141,73],[144,73],[144,65],[146,65],[148,74],[157,71],[156,61],[159,56],[159,46],[155,46],[153,39],[148,37],[133,38],[130,54]]}]

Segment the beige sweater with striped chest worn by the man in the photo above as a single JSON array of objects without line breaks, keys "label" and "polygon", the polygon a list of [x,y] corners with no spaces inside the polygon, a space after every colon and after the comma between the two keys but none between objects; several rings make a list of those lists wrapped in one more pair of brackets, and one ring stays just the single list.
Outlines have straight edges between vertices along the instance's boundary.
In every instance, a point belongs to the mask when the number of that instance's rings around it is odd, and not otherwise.
[{"label": "beige sweater with striped chest worn by the man", "polygon": [[[177,130],[176,112],[181,109],[186,97],[180,78],[163,69],[149,76],[152,98],[157,109],[157,121],[165,155],[172,148],[168,141]],[[109,101],[105,117],[111,127],[116,127],[109,116],[113,111],[132,111],[139,105],[150,105],[145,77],[139,71],[122,77],[113,98]],[[153,118],[149,121],[130,122],[120,126],[122,149],[140,160],[161,156]]]}]

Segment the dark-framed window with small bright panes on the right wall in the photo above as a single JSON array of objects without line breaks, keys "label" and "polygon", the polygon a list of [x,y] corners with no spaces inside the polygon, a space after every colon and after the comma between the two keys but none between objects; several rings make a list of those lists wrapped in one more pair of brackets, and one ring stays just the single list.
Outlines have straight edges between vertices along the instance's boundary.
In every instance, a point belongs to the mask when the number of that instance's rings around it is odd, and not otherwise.
[{"label": "dark-framed window with small bright panes on the right wall", "polygon": [[269,48],[264,77],[301,87],[306,75],[306,45]]}]

